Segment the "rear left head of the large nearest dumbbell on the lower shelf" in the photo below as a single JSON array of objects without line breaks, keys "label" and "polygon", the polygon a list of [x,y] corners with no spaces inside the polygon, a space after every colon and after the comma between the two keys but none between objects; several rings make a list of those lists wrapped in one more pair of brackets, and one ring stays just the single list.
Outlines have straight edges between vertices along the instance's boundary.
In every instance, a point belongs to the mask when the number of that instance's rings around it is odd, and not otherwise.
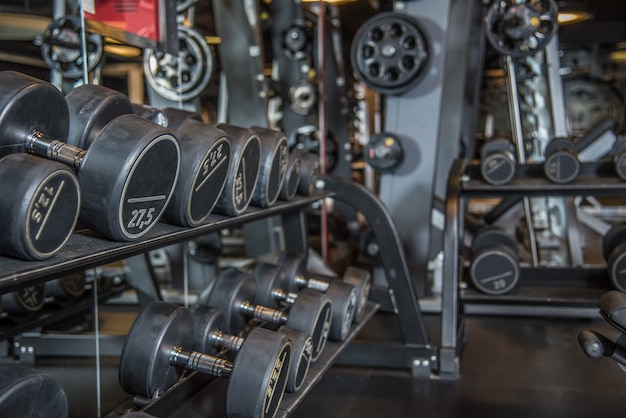
[{"label": "rear left head of the large nearest dumbbell on the lower shelf", "polygon": [[193,342],[189,311],[165,302],[153,302],[135,319],[119,366],[122,389],[132,395],[154,398],[168,390],[184,370],[170,365],[174,346],[183,349]]}]

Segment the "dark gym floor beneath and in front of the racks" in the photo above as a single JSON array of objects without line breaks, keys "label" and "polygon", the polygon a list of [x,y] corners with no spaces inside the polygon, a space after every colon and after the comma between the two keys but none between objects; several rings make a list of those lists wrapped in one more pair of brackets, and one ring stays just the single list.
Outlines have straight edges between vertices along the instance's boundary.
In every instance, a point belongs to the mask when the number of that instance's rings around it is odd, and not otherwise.
[{"label": "dark gym floor beneath and in front of the racks", "polygon": [[[603,320],[472,316],[467,326],[459,379],[419,380],[404,370],[335,366],[292,416],[624,416],[626,373],[612,360],[587,358],[576,339],[588,327],[613,335]],[[64,363],[39,368],[62,381],[71,417],[95,417],[93,361]],[[101,381],[106,415],[126,397],[114,360],[103,361]]]}]

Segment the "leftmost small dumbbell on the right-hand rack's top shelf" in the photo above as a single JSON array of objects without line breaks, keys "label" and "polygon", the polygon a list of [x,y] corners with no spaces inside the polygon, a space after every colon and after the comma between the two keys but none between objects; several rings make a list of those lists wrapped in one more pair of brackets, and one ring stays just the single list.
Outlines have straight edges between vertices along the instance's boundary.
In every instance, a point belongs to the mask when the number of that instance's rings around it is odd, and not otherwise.
[{"label": "leftmost small dumbbell on the right-hand rack's top shelf", "polygon": [[506,139],[494,139],[480,151],[480,173],[489,184],[507,184],[515,176],[516,161],[513,144]]}]

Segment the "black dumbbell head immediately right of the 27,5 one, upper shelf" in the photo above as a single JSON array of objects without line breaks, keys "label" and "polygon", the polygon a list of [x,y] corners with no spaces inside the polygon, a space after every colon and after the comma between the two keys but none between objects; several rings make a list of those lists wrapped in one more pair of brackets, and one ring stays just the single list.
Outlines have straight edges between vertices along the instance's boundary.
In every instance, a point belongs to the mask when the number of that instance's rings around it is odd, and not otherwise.
[{"label": "black dumbbell head immediately right of the 27,5 one, upper shelf", "polygon": [[197,120],[186,120],[176,131],[181,173],[163,220],[197,226],[207,219],[224,190],[231,143],[224,131]]}]

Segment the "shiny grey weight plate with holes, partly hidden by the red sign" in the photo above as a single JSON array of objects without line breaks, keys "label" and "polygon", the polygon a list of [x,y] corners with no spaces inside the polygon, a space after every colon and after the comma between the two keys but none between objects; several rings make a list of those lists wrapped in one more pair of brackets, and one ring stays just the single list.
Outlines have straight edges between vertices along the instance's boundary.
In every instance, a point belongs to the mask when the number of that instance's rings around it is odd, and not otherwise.
[{"label": "shiny grey weight plate with holes, partly hidden by the red sign", "polygon": [[196,29],[178,26],[178,55],[144,51],[143,66],[148,84],[165,99],[185,102],[206,89],[213,72],[213,54]]}]

